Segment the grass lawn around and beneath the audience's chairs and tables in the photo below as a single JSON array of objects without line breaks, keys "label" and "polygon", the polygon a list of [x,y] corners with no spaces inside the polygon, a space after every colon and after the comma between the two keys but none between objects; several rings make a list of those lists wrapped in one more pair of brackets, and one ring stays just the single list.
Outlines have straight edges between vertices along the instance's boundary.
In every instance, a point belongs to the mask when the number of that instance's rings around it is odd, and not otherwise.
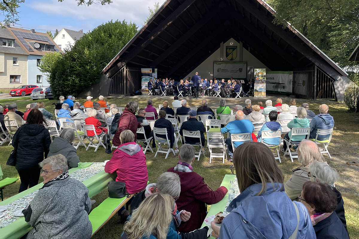
[{"label": "grass lawn around and beneath the audience's chairs and tables", "polygon": [[[265,103],[265,100],[271,99],[275,101],[276,95],[270,95],[269,97],[262,100]],[[151,96],[153,99],[154,107],[158,107],[159,104],[162,104],[164,100],[168,100],[170,102],[173,101],[173,97],[159,97],[159,96]],[[146,107],[147,105],[147,96],[135,96],[135,97],[107,97],[105,100],[108,101],[109,104],[115,103],[117,106],[125,106],[126,103],[130,100],[135,100],[139,103],[139,107]],[[244,105],[244,100],[242,99],[228,99],[227,105],[233,109],[233,107],[237,104]],[[252,99],[252,104],[255,104],[259,99]],[[288,103],[288,97],[282,97],[283,101]],[[95,99],[94,99],[95,100]],[[37,102],[31,100],[29,97],[25,98],[12,98],[6,100],[0,100],[0,104],[4,105],[6,103],[16,101],[18,105],[18,110],[24,111],[26,105],[32,102]],[[83,103],[85,100],[79,100],[79,102]],[[187,99],[188,106],[200,106],[201,99]],[[209,107],[216,108],[218,107],[219,99],[209,98]],[[45,102],[45,108],[52,112],[54,107],[51,105],[53,102],[57,102],[56,100],[43,100]],[[313,110],[316,114],[318,114],[318,109],[320,104],[327,104],[329,106],[329,113],[334,116],[335,126],[334,126],[334,134],[333,139],[330,144],[329,151],[332,155],[332,158],[328,158],[325,156],[328,164],[339,172],[340,181],[336,184],[337,189],[341,192],[344,200],[344,208],[345,208],[345,216],[348,225],[350,238],[359,239],[359,190],[358,190],[358,182],[359,182],[359,126],[358,120],[353,118],[353,113],[348,113],[345,104],[341,104],[334,101],[326,101],[326,100],[317,100],[306,101],[304,99],[298,99],[297,106],[300,106],[303,102],[308,102],[310,105],[310,109]],[[1,146],[0,151],[0,165],[4,172],[5,177],[18,177],[18,173],[15,167],[6,166],[6,160],[9,157],[12,146]],[[169,155],[167,159],[164,159],[164,154],[158,154],[157,157],[154,157],[155,153],[147,152],[147,168],[149,174],[149,181],[155,182],[157,177],[167,171],[168,168],[174,167],[178,161],[178,156],[174,157],[173,154]],[[94,153],[93,149],[89,149],[85,151],[84,147],[80,147],[78,149],[78,156],[80,157],[81,162],[103,162],[111,158],[111,154],[106,154],[103,148],[99,148],[99,150]],[[208,149],[206,150],[206,156],[209,156]],[[294,161],[293,163],[290,161],[288,157],[283,158],[281,155],[282,163],[279,163],[279,167],[283,170],[285,174],[285,180],[288,180],[290,175],[292,174],[292,169],[300,166],[298,161]],[[195,161],[193,164],[194,171],[199,173],[204,177],[205,182],[214,190],[216,190],[225,174],[230,174],[229,166],[232,163],[225,162],[222,164],[222,160],[214,159],[212,163],[209,164],[208,157],[201,157],[200,161]],[[42,179],[40,180],[42,181]],[[4,190],[5,199],[15,195],[18,192],[20,185],[20,181],[17,183],[10,185]],[[103,190],[98,195],[94,196],[93,199],[96,200],[96,203],[93,207],[99,205],[106,197],[108,197],[107,190]],[[119,238],[122,233],[122,224],[117,224],[118,217],[114,216],[102,229],[98,231],[97,234],[93,236],[95,239],[99,238]]]}]

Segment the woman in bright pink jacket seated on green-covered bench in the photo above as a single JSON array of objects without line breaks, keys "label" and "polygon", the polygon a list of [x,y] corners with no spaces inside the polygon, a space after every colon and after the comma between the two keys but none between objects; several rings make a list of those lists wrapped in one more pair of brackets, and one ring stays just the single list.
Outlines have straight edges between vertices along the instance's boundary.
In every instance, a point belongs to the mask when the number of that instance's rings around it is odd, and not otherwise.
[{"label": "woman in bright pink jacket seated on green-covered bench", "polygon": [[[116,181],[125,182],[129,194],[140,192],[146,188],[148,171],[146,156],[142,147],[135,143],[135,135],[131,130],[123,130],[120,134],[121,145],[112,153],[112,158],[106,163],[106,173],[117,173]],[[121,221],[130,215],[129,211],[122,207]]]}]

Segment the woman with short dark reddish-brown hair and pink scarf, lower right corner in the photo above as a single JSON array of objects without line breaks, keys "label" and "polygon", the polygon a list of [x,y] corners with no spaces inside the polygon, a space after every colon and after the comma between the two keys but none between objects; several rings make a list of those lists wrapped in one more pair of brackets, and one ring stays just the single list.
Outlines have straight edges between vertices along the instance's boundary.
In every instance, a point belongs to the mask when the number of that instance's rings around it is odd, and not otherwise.
[{"label": "woman with short dark reddish-brown hair and pink scarf, lower right corner", "polygon": [[336,193],[329,185],[307,181],[298,199],[307,207],[317,239],[349,239],[348,232],[335,212]]}]

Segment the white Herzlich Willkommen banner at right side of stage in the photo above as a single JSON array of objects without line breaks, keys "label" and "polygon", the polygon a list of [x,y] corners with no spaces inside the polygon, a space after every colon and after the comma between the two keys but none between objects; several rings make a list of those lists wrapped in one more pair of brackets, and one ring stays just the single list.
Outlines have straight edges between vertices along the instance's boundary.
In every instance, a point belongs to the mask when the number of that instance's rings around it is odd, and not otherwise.
[{"label": "white Herzlich Willkommen banner at right side of stage", "polygon": [[268,71],[266,88],[269,91],[292,93],[293,71]]}]

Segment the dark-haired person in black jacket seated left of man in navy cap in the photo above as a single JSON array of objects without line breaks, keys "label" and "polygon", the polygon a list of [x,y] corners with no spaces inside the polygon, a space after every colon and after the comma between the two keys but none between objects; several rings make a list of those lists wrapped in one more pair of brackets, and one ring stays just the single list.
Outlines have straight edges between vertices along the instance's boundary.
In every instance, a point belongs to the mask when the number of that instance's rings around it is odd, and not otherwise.
[{"label": "dark-haired person in black jacket seated left of man in navy cap", "polygon": [[[174,147],[174,153],[178,153],[178,145],[177,145],[177,141],[178,139],[174,136],[174,128],[172,123],[166,119],[166,111],[164,110],[160,110],[159,111],[159,119],[156,120],[154,127],[155,128],[160,128],[160,129],[167,129],[167,138],[170,142],[170,148],[172,149]],[[159,140],[166,140],[166,136],[165,135],[158,135],[156,134],[157,139]],[[156,147],[156,142],[153,139],[152,140],[152,148]]]}]

